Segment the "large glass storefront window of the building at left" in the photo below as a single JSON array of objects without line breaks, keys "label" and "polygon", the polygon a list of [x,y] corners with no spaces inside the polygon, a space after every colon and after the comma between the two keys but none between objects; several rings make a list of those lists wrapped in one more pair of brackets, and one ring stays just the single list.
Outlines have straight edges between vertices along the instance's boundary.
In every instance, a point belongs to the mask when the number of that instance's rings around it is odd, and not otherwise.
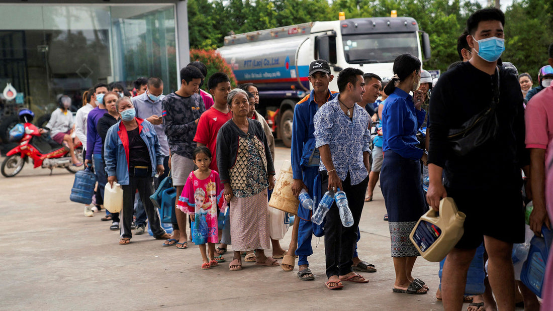
[{"label": "large glass storefront window of the building at left", "polygon": [[82,93],[98,82],[132,89],[136,78],[154,76],[165,82],[164,93],[175,91],[174,8],[0,4],[0,93],[12,83],[40,115],[54,110],[61,94],[79,108]]}]

